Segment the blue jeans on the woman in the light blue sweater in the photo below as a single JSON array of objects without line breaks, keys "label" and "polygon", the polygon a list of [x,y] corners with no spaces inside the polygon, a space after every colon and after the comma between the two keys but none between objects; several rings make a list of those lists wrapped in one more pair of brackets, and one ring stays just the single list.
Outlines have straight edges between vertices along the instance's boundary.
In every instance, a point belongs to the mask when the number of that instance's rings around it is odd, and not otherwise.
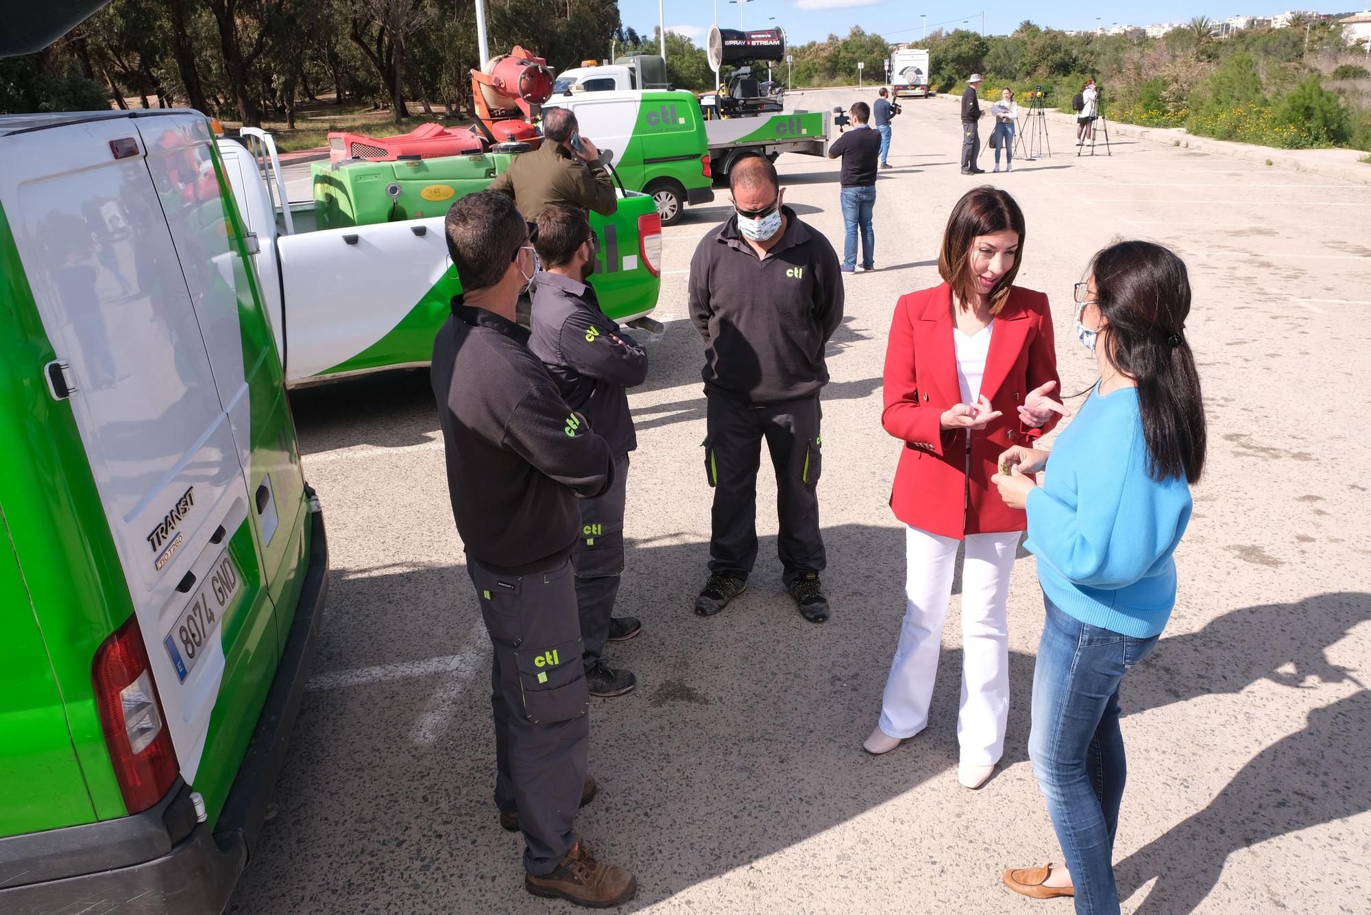
[{"label": "blue jeans on the woman in the light blue sweater", "polygon": [[1076,888],[1076,915],[1119,912],[1113,840],[1128,774],[1119,682],[1157,638],[1082,623],[1050,599],[1032,675],[1028,757]]}]

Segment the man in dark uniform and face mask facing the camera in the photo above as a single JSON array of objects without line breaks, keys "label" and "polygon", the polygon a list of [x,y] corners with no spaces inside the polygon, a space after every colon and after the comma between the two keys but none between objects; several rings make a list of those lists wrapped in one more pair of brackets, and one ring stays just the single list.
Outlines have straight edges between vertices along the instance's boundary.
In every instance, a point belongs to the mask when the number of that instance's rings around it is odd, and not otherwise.
[{"label": "man in dark uniform and face mask facing the camera", "polygon": [[818,392],[828,383],[824,347],[843,320],[842,273],[828,240],[781,203],[776,166],[749,156],[728,180],[735,215],[701,239],[687,285],[705,340],[705,475],[714,487],[710,575],[695,612],[713,616],[747,587],[765,439],[786,589],[806,620],[823,623]]}]

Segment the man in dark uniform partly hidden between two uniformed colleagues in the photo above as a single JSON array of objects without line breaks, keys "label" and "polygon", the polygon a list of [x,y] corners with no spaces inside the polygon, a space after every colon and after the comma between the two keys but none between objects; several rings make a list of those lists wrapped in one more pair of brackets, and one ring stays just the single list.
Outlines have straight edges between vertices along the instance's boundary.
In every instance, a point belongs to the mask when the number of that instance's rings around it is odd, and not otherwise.
[{"label": "man in dark uniform partly hidden between two uniformed colleagues", "polygon": [[638,683],[629,671],[610,668],[605,642],[639,634],[632,616],[616,617],[614,598],[624,572],[624,501],[628,453],[638,447],[628,388],[647,379],[647,354],[600,311],[585,283],[595,270],[595,235],[576,207],[550,206],[537,214],[537,274],[529,348],[557,383],[562,398],[590,421],[614,453],[614,482],[580,501],[581,528],[572,550],[576,605],[591,696],[622,696]]}]

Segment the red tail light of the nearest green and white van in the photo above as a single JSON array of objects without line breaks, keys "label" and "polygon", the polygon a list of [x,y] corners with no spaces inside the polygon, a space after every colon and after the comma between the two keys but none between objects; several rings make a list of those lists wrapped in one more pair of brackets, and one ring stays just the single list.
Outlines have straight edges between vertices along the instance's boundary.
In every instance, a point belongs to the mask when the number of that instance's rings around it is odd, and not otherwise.
[{"label": "red tail light of the nearest green and white van", "polygon": [[181,765],[137,616],[130,616],[96,652],[92,679],[123,804],[130,813],[145,811],[171,789]]}]

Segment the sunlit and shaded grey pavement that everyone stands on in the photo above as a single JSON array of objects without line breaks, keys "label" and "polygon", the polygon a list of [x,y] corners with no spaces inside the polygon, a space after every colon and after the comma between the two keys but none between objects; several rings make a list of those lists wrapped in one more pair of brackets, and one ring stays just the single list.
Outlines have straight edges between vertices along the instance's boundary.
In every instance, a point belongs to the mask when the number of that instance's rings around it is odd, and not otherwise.
[{"label": "sunlit and shaded grey pavement that everyone stands on", "polygon": [[[820,108],[857,97],[812,96]],[[903,612],[902,534],[887,508],[901,446],[880,428],[886,333],[901,294],[938,283],[947,213],[984,181],[1027,215],[1019,283],[1052,299],[1068,394],[1093,381],[1071,288],[1095,250],[1163,241],[1196,289],[1186,335],[1209,465],[1176,553],[1179,605],[1123,686],[1124,911],[1368,911],[1371,188],[1141,140],[1076,158],[1056,134],[1056,156],[976,180],[958,174],[956,112],[945,100],[905,106],[897,167],[877,185],[879,269],[846,280],[824,392],[825,626],[781,590],[765,508],[749,593],[717,617],[691,612],[710,490],[686,276],[727,196],[665,232],[666,332],[646,339],[653,370],[631,395],[639,450],[620,597],[644,631],[609,653],[639,687],[595,702],[600,794],[583,835],[636,871],[631,911],[1069,911],[999,883],[1005,867],[1061,861],[1026,753],[1043,619],[1031,556],[1010,589],[1015,694],[995,776],[979,792],[956,781],[956,594],[930,728],[888,756],[861,749]],[[840,250],[836,163],[779,167],[786,203]],[[292,399],[333,572],[276,816],[232,911],[573,911],[524,892],[520,840],[496,823],[489,646],[426,373]],[[773,505],[766,477],[761,506]]]}]

